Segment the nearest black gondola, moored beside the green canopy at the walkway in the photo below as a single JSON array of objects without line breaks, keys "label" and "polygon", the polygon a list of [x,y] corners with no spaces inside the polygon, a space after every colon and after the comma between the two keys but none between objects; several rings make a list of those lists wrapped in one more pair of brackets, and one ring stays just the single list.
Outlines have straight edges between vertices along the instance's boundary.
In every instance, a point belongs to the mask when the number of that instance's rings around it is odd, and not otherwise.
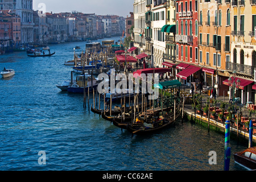
[{"label": "nearest black gondola, moored beside the green canopy at the walkway", "polygon": [[174,125],[175,120],[179,118],[179,115],[180,111],[179,109],[177,109],[175,113],[175,119],[174,113],[166,114],[160,116],[159,118],[152,117],[150,122],[140,122],[139,119],[137,118],[137,121],[133,121],[133,123],[129,123],[127,125],[127,130],[130,131],[130,133],[137,135],[152,134],[155,133],[156,131]]}]

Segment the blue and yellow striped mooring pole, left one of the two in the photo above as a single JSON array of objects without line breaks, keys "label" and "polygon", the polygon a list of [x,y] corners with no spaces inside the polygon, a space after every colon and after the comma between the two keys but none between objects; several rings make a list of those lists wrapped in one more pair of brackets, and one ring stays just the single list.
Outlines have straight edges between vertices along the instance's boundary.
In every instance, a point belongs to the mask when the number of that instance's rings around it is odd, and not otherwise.
[{"label": "blue and yellow striped mooring pole, left one of the two", "polygon": [[225,162],[224,162],[224,171],[229,170],[229,163],[230,163],[230,154],[231,154],[231,149],[229,147],[229,141],[230,141],[230,121],[226,120],[225,122]]}]

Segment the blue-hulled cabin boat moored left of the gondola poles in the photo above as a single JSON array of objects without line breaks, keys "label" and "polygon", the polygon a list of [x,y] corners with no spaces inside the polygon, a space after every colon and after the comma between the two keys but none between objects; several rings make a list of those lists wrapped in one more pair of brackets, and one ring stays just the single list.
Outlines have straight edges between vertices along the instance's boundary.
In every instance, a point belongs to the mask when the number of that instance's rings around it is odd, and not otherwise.
[{"label": "blue-hulled cabin boat moored left of the gondola poles", "polygon": [[92,92],[93,89],[96,90],[97,86],[98,80],[92,75],[85,74],[77,76],[76,82],[73,83],[71,86],[68,86],[67,90],[69,93],[84,93],[85,87],[85,93],[88,93]]}]

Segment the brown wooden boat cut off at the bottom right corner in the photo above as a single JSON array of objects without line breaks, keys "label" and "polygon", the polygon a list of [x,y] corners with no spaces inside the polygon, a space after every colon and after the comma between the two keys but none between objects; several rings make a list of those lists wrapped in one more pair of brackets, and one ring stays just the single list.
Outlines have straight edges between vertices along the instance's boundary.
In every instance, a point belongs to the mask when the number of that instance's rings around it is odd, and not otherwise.
[{"label": "brown wooden boat cut off at the bottom right corner", "polygon": [[256,147],[247,148],[244,151],[234,153],[234,161],[251,170],[256,169]]}]

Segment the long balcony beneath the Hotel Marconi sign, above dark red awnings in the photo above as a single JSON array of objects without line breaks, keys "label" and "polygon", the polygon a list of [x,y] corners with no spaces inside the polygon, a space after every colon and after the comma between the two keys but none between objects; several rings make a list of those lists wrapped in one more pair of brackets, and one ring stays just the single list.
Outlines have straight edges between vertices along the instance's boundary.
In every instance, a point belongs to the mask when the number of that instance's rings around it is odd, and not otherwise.
[{"label": "long balcony beneath the Hotel Marconi sign, above dark red awnings", "polygon": [[236,71],[237,73],[254,76],[254,68],[255,66],[226,62],[226,70]]}]

